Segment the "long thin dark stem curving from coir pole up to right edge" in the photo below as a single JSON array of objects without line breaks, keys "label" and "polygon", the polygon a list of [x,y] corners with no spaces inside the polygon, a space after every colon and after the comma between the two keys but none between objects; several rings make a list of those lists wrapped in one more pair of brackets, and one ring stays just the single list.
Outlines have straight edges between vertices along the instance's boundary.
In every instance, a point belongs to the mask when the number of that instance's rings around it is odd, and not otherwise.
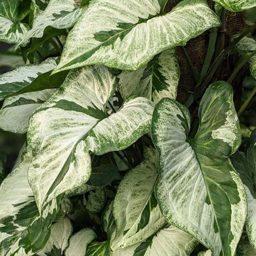
[{"label": "long thin dark stem curving from coir pole up to right edge", "polygon": [[228,54],[230,52],[230,50],[242,39],[244,38],[247,34],[249,34],[251,31],[253,31],[254,29],[256,29],[256,24],[253,24],[252,26],[250,26],[248,29],[246,29],[244,31],[244,33],[242,33],[239,37],[236,37],[233,42],[226,48],[223,49],[219,56],[216,58],[216,60],[212,63],[204,83],[200,86],[200,91],[195,92],[195,98],[200,98],[201,95],[204,93],[208,83],[210,82],[213,74],[215,73],[215,71],[217,70],[217,68],[219,67],[219,64],[221,64],[221,61],[223,60],[223,58],[226,56],[226,54]]}]

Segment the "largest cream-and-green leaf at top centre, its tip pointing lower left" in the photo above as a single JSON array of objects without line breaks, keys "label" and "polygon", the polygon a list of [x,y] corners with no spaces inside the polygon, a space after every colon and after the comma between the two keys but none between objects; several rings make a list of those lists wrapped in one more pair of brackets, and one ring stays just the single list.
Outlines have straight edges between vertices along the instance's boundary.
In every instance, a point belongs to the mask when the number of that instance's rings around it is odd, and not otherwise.
[{"label": "largest cream-and-green leaf at top centre, its tip pointing lower left", "polygon": [[158,0],[93,0],[69,33],[55,72],[90,64],[137,70],[219,25],[206,0],[183,0],[167,14]]}]

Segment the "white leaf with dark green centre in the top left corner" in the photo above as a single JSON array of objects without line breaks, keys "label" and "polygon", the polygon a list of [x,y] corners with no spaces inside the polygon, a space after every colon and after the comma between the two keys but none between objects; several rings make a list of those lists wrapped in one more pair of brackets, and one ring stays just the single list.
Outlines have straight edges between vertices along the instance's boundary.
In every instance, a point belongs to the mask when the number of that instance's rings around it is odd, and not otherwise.
[{"label": "white leaf with dark green centre in the top left corner", "polygon": [[[29,13],[29,1],[2,0],[0,4],[0,41],[16,44],[29,30],[21,20]],[[26,43],[26,42],[24,42]]]}]

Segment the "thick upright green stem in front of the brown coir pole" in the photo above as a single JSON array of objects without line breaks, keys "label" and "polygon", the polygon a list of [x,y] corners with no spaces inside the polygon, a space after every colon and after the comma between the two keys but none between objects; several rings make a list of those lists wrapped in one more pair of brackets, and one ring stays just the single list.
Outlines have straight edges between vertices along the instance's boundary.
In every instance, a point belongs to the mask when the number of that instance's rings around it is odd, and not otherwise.
[{"label": "thick upright green stem in front of the brown coir pole", "polygon": [[208,71],[209,66],[211,64],[212,56],[213,56],[213,53],[214,53],[214,50],[215,50],[216,39],[217,39],[217,31],[211,32],[210,37],[209,37],[209,45],[208,45],[204,65],[202,67],[201,73],[199,75],[199,78],[198,78],[198,81],[197,81],[197,84],[196,84],[195,87],[199,86],[203,82],[203,80],[204,80],[204,78],[207,74],[207,71]]}]

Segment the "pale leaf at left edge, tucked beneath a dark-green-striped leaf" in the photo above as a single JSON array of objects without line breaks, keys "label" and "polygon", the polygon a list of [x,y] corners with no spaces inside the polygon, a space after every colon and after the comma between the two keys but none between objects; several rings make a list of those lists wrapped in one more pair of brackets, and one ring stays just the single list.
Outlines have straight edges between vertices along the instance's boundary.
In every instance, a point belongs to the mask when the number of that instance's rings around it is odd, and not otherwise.
[{"label": "pale leaf at left edge, tucked beneath a dark-green-striped leaf", "polygon": [[48,100],[55,90],[28,92],[5,99],[0,109],[0,128],[12,133],[26,133],[27,123],[32,113]]}]

